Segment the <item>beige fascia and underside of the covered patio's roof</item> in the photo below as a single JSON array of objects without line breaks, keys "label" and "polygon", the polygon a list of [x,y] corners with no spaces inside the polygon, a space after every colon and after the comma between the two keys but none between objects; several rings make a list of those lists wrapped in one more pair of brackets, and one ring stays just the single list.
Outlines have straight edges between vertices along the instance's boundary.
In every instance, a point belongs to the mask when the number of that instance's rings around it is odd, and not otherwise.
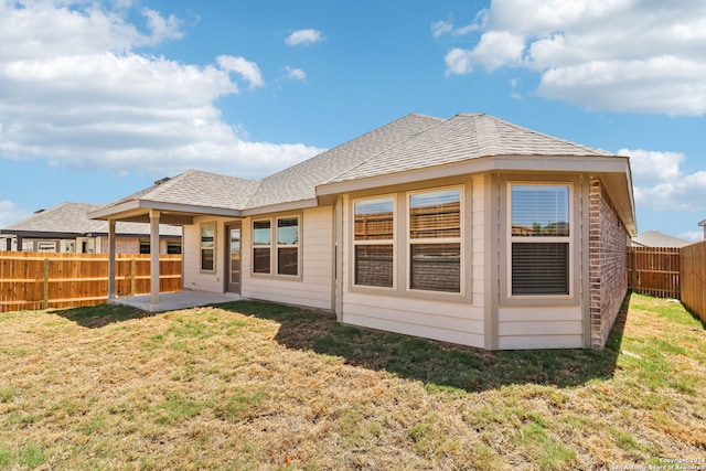
[{"label": "beige fascia and underside of the covered patio's roof", "polygon": [[92,220],[149,223],[150,213],[158,211],[160,224],[176,226],[191,225],[196,216],[242,217],[239,210],[201,206],[192,204],[165,203],[150,200],[130,200],[111,206],[104,206],[88,213]]}]

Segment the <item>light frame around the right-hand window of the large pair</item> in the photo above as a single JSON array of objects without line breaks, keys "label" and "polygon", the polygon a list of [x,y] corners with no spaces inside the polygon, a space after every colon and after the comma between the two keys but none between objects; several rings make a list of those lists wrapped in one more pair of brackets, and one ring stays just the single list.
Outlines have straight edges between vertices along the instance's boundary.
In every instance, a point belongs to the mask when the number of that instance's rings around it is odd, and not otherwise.
[{"label": "light frame around the right-hand window of the large pair", "polygon": [[[447,190],[459,190],[460,194],[459,194],[459,199],[460,199],[460,213],[459,213],[459,217],[460,217],[460,235],[459,237],[442,237],[442,238],[411,238],[410,233],[411,233],[411,216],[410,216],[410,211],[411,211],[411,196],[415,194],[426,194],[426,193],[436,193],[436,192],[442,192],[442,191],[447,191]],[[416,293],[434,293],[434,295],[438,295],[438,296],[448,296],[448,297],[453,297],[453,298],[458,298],[459,296],[464,296],[464,291],[466,291],[466,251],[464,251],[464,246],[466,244],[463,243],[463,236],[466,235],[466,231],[464,231],[464,222],[466,222],[466,194],[464,194],[464,185],[449,185],[449,186],[435,186],[431,189],[425,189],[425,190],[417,190],[417,191],[410,191],[407,192],[407,205],[405,207],[406,210],[406,220],[407,220],[407,225],[406,225],[406,234],[405,234],[405,245],[406,245],[406,263],[405,263],[405,287],[407,289],[408,292],[416,292]],[[450,291],[437,291],[437,290],[428,290],[428,289],[413,289],[411,288],[411,246],[414,244],[459,244],[460,246],[460,255],[461,255],[461,266],[460,266],[460,270],[461,272],[459,274],[460,279],[460,290],[459,292],[450,292]]]}]

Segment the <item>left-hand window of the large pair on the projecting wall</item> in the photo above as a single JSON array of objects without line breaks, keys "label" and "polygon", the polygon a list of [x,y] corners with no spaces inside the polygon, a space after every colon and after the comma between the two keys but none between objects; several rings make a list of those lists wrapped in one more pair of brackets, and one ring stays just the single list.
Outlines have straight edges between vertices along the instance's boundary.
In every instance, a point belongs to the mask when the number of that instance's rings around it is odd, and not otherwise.
[{"label": "left-hand window of the large pair on the projecting wall", "polygon": [[393,287],[394,203],[392,196],[359,200],[353,203],[355,285]]}]

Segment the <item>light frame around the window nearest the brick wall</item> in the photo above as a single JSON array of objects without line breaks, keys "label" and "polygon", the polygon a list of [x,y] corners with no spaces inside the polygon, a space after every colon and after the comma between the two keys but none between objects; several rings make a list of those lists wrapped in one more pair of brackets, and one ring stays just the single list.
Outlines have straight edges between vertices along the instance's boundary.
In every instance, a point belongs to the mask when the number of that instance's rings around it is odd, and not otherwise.
[{"label": "light frame around the window nearest the brick wall", "polygon": [[[523,236],[513,236],[512,235],[512,188],[513,186],[567,186],[569,190],[568,200],[569,200],[569,235],[568,236],[536,236],[536,237],[523,237]],[[576,218],[574,217],[574,184],[571,182],[566,181],[545,181],[545,182],[525,182],[525,181],[509,181],[507,182],[507,211],[506,211],[506,231],[507,231],[507,244],[505,247],[505,254],[507,257],[506,263],[506,274],[505,277],[507,280],[507,298],[509,299],[522,299],[522,300],[543,300],[543,299],[573,299],[574,298],[574,244],[575,244],[575,234],[577,232],[577,227],[575,224]],[[569,257],[569,267],[568,267],[568,295],[513,295],[512,293],[512,245],[513,243],[568,243],[568,257]]]}]

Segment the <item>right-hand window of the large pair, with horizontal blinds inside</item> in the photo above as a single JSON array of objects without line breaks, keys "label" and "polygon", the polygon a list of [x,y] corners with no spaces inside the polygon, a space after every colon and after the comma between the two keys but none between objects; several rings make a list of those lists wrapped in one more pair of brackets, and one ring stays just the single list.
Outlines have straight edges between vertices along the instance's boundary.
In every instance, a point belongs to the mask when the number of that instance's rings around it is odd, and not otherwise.
[{"label": "right-hand window of the large pair, with horizontal blinds inside", "polygon": [[409,288],[461,291],[461,189],[409,195]]}]

